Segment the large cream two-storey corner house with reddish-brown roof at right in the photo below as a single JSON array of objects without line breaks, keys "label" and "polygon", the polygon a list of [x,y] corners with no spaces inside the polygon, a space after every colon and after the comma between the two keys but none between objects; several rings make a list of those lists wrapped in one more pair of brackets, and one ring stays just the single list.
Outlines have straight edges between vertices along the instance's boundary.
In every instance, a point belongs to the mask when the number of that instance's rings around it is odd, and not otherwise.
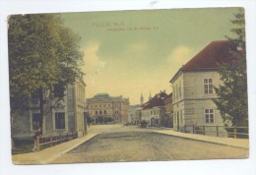
[{"label": "large cream two-storey corner house with reddish-brown roof at right", "polygon": [[230,63],[228,41],[213,41],[182,66],[170,80],[172,84],[173,129],[189,131],[188,126],[206,126],[206,134],[223,126],[220,111],[213,99],[214,87],[221,84],[218,64]]}]

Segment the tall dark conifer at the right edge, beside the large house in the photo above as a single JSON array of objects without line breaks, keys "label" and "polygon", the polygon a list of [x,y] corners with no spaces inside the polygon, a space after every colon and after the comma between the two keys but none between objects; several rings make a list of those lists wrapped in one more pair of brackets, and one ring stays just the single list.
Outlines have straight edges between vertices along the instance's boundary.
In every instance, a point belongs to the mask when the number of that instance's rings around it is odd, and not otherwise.
[{"label": "tall dark conifer at the right edge, beside the large house", "polygon": [[240,9],[230,21],[235,27],[230,29],[233,37],[227,37],[230,43],[231,64],[220,64],[219,73],[223,85],[215,87],[218,99],[214,102],[224,120],[233,126],[248,126],[247,72],[245,47],[244,11]]}]

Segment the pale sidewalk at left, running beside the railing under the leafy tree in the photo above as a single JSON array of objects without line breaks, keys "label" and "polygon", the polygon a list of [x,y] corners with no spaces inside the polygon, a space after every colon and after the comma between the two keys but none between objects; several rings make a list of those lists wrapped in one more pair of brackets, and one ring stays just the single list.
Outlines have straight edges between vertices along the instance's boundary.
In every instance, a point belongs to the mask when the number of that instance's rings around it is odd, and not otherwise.
[{"label": "pale sidewalk at left, running beside the railing under the leafy tree", "polygon": [[84,137],[66,142],[57,146],[44,148],[37,152],[21,153],[12,156],[14,164],[47,164],[61,154],[82,145],[94,138],[96,134],[88,134]]}]

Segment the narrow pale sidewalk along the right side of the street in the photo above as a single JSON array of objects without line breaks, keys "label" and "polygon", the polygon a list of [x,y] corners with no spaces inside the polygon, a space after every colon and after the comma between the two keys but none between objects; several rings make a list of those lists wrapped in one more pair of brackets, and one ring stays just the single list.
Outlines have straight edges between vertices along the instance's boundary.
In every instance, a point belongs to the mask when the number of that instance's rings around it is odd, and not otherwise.
[{"label": "narrow pale sidewalk along the right side of the street", "polygon": [[248,139],[219,138],[219,137],[214,137],[214,136],[181,133],[181,132],[173,131],[171,129],[159,129],[159,130],[154,130],[154,132],[164,134],[164,135],[170,135],[170,136],[175,136],[175,137],[180,137],[180,138],[196,140],[196,141],[219,144],[219,145],[223,145],[223,146],[249,148],[249,140]]}]

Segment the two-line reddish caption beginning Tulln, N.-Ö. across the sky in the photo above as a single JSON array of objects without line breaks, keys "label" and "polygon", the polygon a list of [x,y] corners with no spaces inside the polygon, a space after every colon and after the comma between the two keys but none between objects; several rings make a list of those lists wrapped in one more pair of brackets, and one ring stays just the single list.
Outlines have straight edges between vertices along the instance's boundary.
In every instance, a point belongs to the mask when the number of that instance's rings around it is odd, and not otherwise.
[{"label": "two-line reddish caption beginning Tulln, N.-\u00d6. across the sky", "polygon": [[158,30],[155,26],[131,26],[126,25],[124,22],[104,22],[93,23],[93,28],[106,29],[107,31],[146,31],[146,30]]}]

